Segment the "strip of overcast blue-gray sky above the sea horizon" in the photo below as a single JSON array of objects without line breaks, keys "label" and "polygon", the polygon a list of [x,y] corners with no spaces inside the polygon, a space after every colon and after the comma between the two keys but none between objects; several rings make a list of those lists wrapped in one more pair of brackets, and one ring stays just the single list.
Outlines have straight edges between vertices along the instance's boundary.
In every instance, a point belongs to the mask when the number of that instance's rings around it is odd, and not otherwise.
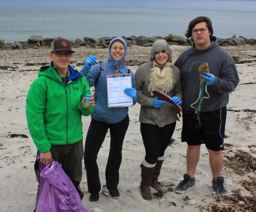
[{"label": "strip of overcast blue-gray sky above the sea horizon", "polygon": [[256,0],[0,0],[0,7],[9,6],[131,7],[256,12]]}]

